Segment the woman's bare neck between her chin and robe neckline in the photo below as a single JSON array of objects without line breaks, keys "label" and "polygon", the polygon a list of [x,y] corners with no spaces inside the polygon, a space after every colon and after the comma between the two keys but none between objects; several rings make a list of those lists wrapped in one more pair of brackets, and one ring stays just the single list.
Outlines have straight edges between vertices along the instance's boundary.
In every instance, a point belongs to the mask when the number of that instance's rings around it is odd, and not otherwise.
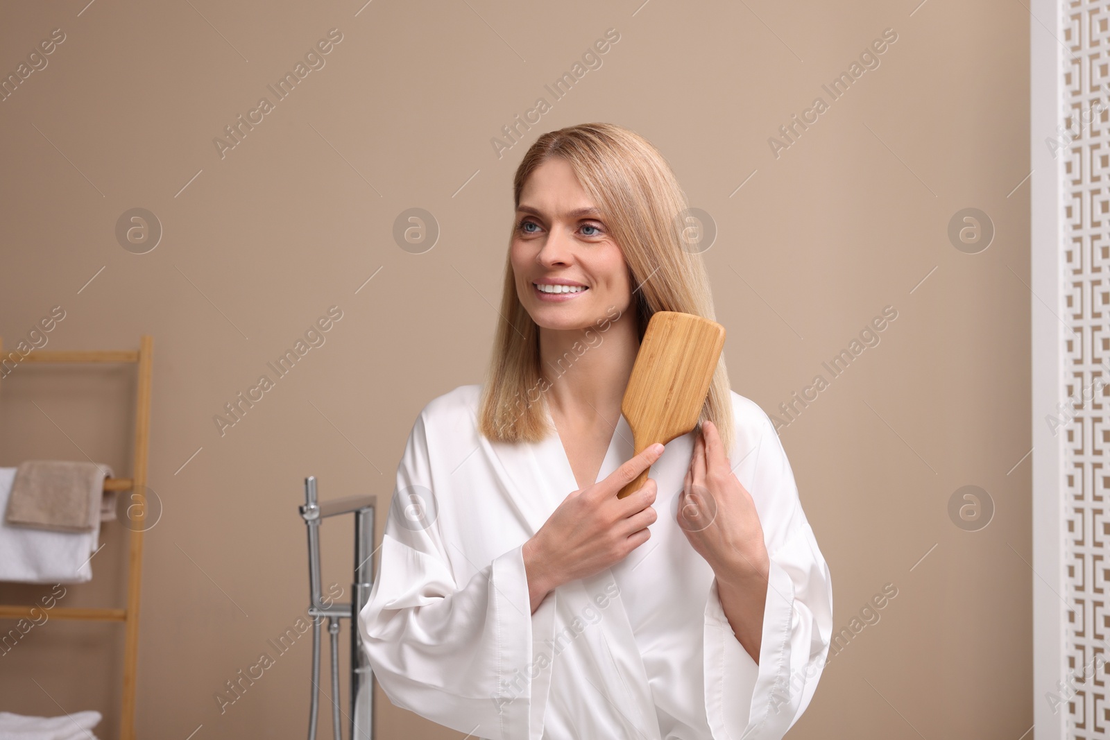
[{"label": "woman's bare neck between her chin and robe neckline", "polygon": [[541,372],[551,383],[545,395],[553,416],[587,419],[599,414],[613,423],[639,351],[636,316],[624,313],[604,332],[539,327]]}]

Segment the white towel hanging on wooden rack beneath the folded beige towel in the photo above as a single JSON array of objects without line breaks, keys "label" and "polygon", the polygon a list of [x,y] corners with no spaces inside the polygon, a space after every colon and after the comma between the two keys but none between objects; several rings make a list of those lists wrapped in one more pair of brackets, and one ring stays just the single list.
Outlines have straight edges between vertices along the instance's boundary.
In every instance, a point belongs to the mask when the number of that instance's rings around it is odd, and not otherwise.
[{"label": "white towel hanging on wooden rack beneath the folded beige towel", "polygon": [[[8,507],[16,469],[0,467],[0,511]],[[100,518],[93,518],[92,531],[51,531],[12,527],[0,517],[0,580],[26,584],[91,580],[91,557],[100,543]]]}]

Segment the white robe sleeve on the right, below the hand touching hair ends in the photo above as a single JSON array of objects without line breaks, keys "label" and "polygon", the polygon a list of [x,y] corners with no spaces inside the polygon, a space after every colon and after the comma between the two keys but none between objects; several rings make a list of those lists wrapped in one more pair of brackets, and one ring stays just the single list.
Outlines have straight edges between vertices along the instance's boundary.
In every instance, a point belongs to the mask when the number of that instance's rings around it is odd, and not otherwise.
[{"label": "white robe sleeve on the right, below the hand touching hair ends", "polygon": [[[705,608],[706,716],[715,738],[781,738],[809,706],[833,633],[833,581],[766,413],[744,448],[770,560],[759,663],[733,633],[714,579]],[[749,446],[750,444],[750,446]],[[737,465],[735,459],[733,464]],[[737,477],[741,477],[737,470]],[[743,477],[741,477],[743,479]]]}]

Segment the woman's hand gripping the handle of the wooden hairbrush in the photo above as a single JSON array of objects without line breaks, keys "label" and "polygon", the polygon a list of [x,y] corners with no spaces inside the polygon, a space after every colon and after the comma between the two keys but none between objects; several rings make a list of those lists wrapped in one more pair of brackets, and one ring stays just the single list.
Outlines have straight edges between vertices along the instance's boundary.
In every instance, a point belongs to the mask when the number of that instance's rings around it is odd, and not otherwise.
[{"label": "woman's hand gripping the handle of the wooden hairbrush", "polygon": [[656,484],[648,478],[634,494],[617,493],[663,454],[656,443],[624,463],[603,480],[572,491],[523,547],[532,611],[549,591],[567,581],[588,578],[623,560],[647,541],[655,521]]}]

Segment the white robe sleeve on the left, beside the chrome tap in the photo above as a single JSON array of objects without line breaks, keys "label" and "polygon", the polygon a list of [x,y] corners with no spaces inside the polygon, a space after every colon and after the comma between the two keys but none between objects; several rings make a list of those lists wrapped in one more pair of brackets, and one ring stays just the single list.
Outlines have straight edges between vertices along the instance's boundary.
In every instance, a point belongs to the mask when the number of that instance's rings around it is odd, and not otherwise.
[{"label": "white robe sleeve on the left, beside the chrome tap", "polygon": [[[475,562],[446,541],[438,508],[448,507],[436,496],[451,493],[450,480],[436,487],[428,418],[425,408],[397,466],[377,577],[359,615],[364,649],[395,706],[474,738],[538,740],[551,671],[534,663],[546,658],[556,595],[529,614],[523,543]],[[477,572],[456,579],[451,555]]]}]

